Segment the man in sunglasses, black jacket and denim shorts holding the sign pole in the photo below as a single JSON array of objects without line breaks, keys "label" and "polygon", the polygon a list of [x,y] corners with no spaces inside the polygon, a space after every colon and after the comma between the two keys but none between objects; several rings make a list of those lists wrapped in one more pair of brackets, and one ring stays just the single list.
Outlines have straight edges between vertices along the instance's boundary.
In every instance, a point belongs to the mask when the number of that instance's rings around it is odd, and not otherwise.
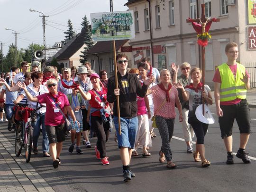
[{"label": "man in sunglasses, black jacket and denim shorts holding the sign pole", "polygon": [[[114,103],[114,124],[117,131],[120,156],[123,164],[124,181],[131,180],[135,174],[130,171],[130,159],[132,150],[135,147],[135,140],[138,128],[137,118],[137,95],[145,97],[147,86],[152,82],[152,77],[144,80],[141,85],[135,74],[127,73],[128,57],[124,53],[117,55],[118,87],[116,89],[115,76],[109,78],[107,100]],[[121,135],[119,134],[119,121],[117,113],[116,96],[119,95],[119,109],[121,122]]]}]

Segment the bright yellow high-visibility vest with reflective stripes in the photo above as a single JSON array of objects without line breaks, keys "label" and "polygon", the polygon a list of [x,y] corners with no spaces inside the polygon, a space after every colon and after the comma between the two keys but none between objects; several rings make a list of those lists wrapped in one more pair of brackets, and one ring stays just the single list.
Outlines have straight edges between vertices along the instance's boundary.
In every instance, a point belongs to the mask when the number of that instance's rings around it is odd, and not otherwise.
[{"label": "bright yellow high-visibility vest with reflective stripes", "polygon": [[237,63],[236,79],[227,63],[223,63],[219,67],[221,77],[220,101],[230,101],[235,99],[246,99],[245,83],[241,81],[245,74],[245,67]]}]

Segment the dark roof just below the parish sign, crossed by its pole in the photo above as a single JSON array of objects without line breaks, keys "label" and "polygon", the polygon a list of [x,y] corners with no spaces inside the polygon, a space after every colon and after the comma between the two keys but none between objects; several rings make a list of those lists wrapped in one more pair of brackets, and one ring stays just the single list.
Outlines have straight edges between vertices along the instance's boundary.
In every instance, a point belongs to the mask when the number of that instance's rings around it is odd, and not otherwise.
[{"label": "dark roof just below the parish sign, crossed by its pole", "polygon": [[[91,47],[90,50],[86,52],[86,55],[93,55],[97,53],[108,53],[112,51],[113,49],[113,41],[102,41],[97,42],[93,47]],[[128,39],[125,40],[116,40],[116,50],[119,50],[121,46],[123,46],[126,42],[128,42]]]}]

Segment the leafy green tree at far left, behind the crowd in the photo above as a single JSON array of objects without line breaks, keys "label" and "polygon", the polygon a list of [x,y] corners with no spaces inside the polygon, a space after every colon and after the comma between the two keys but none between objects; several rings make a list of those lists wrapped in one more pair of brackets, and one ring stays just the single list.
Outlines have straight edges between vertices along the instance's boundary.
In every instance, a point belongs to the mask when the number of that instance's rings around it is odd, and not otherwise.
[{"label": "leafy green tree at far left, behind the crowd", "polygon": [[22,56],[22,51],[18,50],[13,43],[9,45],[8,53],[3,59],[3,71],[9,71],[12,66],[20,67],[20,63],[23,61]]}]

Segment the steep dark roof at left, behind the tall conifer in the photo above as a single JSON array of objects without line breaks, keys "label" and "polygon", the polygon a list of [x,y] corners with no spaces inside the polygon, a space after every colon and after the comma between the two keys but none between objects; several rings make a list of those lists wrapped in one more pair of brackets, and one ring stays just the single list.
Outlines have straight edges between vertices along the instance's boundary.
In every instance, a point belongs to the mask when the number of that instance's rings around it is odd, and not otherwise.
[{"label": "steep dark roof at left, behind the tall conifer", "polygon": [[68,41],[64,47],[61,48],[53,57],[57,60],[69,59],[74,53],[76,53],[84,45],[84,33],[78,33],[70,41]]}]

